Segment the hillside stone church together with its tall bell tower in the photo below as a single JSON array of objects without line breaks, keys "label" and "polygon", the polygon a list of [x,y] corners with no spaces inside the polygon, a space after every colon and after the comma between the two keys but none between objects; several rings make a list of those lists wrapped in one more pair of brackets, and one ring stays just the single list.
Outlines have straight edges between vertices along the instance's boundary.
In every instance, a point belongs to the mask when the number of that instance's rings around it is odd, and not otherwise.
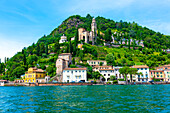
[{"label": "hillside stone church together with its tall bell tower", "polygon": [[96,43],[97,38],[97,24],[95,18],[93,18],[91,23],[91,31],[86,31],[84,28],[78,29],[79,41],[84,40],[85,43],[92,42],[92,45]]}]

